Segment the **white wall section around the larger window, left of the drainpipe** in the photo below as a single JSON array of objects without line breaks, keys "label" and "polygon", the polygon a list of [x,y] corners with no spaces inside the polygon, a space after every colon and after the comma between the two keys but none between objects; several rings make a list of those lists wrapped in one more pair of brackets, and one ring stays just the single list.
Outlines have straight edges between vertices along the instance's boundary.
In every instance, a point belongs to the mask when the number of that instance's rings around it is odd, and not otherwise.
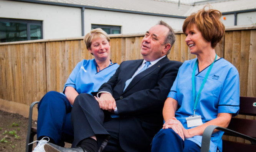
[{"label": "white wall section around the larger window, left of the drainpipe", "polygon": [[43,39],[82,36],[80,8],[0,0],[0,17],[43,21]]}]

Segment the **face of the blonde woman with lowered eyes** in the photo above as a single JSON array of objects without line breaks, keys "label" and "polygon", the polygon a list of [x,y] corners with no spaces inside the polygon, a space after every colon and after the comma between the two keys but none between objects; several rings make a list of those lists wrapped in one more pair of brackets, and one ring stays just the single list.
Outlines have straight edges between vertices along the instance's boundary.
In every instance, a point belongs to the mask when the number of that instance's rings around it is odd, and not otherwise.
[{"label": "face of the blonde woman with lowered eyes", "polygon": [[110,52],[110,42],[106,38],[92,39],[89,52],[95,57],[95,60],[108,60]]}]

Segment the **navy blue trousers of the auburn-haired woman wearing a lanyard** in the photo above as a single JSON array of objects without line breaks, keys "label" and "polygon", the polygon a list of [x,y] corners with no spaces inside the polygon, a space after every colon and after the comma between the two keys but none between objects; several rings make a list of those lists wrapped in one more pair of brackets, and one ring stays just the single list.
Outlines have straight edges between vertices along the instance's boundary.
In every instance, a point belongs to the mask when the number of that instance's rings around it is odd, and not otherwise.
[{"label": "navy blue trousers of the auburn-haired woman wearing a lanyard", "polygon": [[200,152],[195,142],[183,139],[173,129],[161,129],[152,141],[151,152]]}]

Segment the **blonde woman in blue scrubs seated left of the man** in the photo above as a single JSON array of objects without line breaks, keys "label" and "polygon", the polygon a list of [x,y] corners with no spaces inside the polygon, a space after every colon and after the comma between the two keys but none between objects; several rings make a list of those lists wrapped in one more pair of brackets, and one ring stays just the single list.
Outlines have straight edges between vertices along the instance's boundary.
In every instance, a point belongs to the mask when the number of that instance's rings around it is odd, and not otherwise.
[{"label": "blonde woman in blue scrubs seated left of the man", "polygon": [[92,29],[84,36],[84,43],[94,59],[80,61],[69,75],[63,92],[47,92],[38,103],[38,144],[33,152],[45,152],[47,142],[64,146],[66,138],[73,139],[71,110],[76,96],[96,92],[119,67],[110,60],[110,39],[105,31]]}]

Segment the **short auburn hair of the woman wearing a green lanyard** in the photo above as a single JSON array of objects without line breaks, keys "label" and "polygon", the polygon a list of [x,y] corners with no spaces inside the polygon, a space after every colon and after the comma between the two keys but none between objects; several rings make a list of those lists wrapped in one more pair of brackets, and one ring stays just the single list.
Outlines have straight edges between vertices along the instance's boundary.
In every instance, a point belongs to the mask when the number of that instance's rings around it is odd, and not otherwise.
[{"label": "short auburn hair of the woman wearing a green lanyard", "polygon": [[[209,7],[209,10],[205,10],[206,6]],[[221,12],[211,9],[211,5],[206,6],[185,19],[182,31],[185,34],[187,28],[191,28],[195,24],[197,29],[202,33],[202,36],[208,42],[211,42],[211,47],[215,48],[225,34],[225,26],[220,21]]]}]

